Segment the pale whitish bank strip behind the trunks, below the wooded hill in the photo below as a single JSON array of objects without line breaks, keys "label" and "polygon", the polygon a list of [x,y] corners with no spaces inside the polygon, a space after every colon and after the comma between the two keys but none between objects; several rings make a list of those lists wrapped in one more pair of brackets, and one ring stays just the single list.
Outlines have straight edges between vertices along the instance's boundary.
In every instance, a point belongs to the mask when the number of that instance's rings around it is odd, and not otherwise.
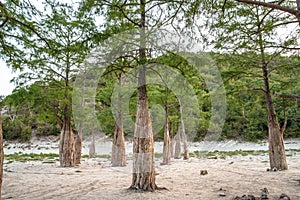
[{"label": "pale whitish bank strip behind the trunks, below the wooded hill", "polygon": [[[96,139],[95,150],[97,155],[110,155],[112,148],[112,140],[107,138]],[[83,140],[82,154],[86,155],[89,153],[90,140]],[[154,143],[154,152],[163,152],[163,142]],[[40,154],[40,153],[58,153],[59,142],[54,138],[46,139],[33,139],[30,143],[20,143],[20,142],[4,142],[4,153],[14,154],[14,153],[24,153],[24,154]],[[126,141],[126,154],[132,152],[133,144],[132,142]],[[299,149],[300,150],[300,139],[287,139],[285,140],[285,149]],[[260,151],[268,150],[267,141],[260,141],[258,143],[254,142],[239,142],[235,140],[225,140],[225,141],[202,141],[202,142],[192,142],[189,143],[189,151]]]}]

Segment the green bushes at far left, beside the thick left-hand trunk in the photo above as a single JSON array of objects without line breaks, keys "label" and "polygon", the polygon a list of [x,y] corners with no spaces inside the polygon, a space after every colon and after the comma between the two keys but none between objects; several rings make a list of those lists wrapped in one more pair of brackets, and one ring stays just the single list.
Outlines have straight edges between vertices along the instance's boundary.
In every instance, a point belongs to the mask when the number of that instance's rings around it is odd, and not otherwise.
[{"label": "green bushes at far left, beside the thick left-hand trunk", "polygon": [[[2,104],[6,109],[3,120],[4,139],[28,141],[32,133],[36,136],[58,135],[57,116],[51,101],[39,83],[19,88],[7,96]],[[59,90],[56,93],[60,93]]]}]

